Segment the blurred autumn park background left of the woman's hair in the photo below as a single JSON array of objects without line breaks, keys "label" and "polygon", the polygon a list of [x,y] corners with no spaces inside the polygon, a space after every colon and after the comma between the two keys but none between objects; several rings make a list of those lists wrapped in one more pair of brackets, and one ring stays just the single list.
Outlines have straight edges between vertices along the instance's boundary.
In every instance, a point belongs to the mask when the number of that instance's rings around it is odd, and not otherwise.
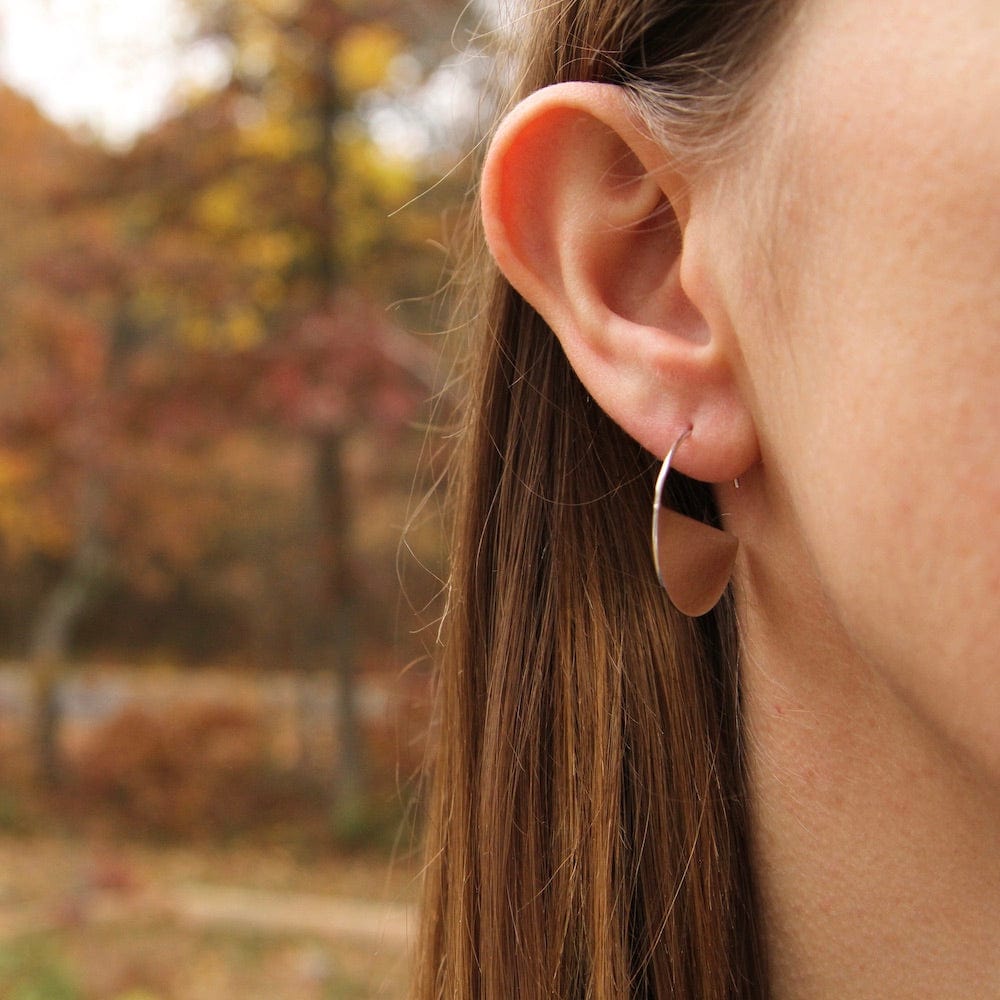
[{"label": "blurred autumn park background left of the woman's hair", "polygon": [[0,997],[402,997],[452,0],[0,0]]}]

